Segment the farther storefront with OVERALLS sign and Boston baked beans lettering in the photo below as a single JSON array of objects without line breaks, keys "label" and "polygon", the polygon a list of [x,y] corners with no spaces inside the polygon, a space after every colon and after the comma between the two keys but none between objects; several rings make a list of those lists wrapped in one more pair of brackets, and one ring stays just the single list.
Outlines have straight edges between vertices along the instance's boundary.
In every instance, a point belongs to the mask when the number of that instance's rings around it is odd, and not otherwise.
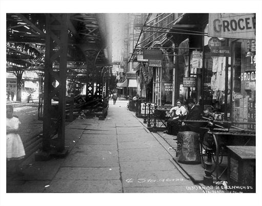
[{"label": "farther storefront with OVERALLS sign and Boston baked beans lettering", "polygon": [[172,52],[170,47],[172,42],[163,37],[157,45],[158,47],[153,49],[144,50],[144,55],[138,58],[140,61],[140,69],[137,71],[139,94],[146,101],[158,106],[172,106],[173,58],[167,52],[168,48]]}]

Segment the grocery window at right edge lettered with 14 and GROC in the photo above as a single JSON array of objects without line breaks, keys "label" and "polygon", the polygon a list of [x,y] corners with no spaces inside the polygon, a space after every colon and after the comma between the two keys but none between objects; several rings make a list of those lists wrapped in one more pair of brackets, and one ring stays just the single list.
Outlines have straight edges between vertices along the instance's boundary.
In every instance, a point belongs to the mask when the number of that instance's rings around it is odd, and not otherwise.
[{"label": "grocery window at right edge lettered with 14 and GROC", "polygon": [[239,128],[255,130],[255,40],[237,40],[233,51],[232,120]]}]

